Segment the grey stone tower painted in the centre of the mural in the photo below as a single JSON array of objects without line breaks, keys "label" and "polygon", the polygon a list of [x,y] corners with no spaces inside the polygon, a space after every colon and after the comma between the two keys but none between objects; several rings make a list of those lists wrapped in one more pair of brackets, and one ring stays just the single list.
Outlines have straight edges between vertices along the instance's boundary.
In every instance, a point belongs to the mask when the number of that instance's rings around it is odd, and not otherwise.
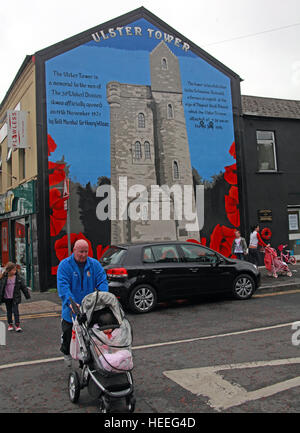
[{"label": "grey stone tower painted in the centre of the mural", "polygon": [[[195,197],[179,61],[163,41],[150,53],[150,75],[151,86],[107,84],[118,213],[111,221],[111,243],[199,239],[198,230],[187,230],[194,220],[184,212],[187,198],[195,212]],[[153,186],[167,194],[155,194]],[[121,201],[122,188],[127,203]]]}]

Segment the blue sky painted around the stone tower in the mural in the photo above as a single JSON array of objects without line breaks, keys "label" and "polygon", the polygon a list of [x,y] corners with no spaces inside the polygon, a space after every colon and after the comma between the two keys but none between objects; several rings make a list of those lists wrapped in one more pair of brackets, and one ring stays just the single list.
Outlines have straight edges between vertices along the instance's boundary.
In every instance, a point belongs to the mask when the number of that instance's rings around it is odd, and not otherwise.
[{"label": "blue sky painted around the stone tower in the mural", "polygon": [[[110,132],[107,126],[85,126],[85,125],[61,125],[60,119],[74,119],[74,115],[67,114],[67,110],[81,111],[82,107],[66,107],[51,103],[66,103],[67,101],[79,102],[84,100],[85,103],[101,103],[101,109],[95,109],[94,112],[101,113],[101,116],[80,117],[90,122],[101,121],[104,124],[109,122],[110,113],[109,105],[106,102],[106,84],[109,81],[119,81],[121,83],[130,83],[138,85],[150,85],[150,62],[149,53],[160,43],[156,39],[154,32],[149,37],[148,28],[159,30],[146,20],[141,19],[128,26],[138,26],[142,29],[142,36],[116,36],[101,40],[100,42],[91,41],[81,45],[64,54],[54,57],[46,63],[46,92],[47,92],[47,115],[48,115],[48,133],[53,137],[58,147],[51,155],[52,161],[58,161],[64,156],[65,161],[70,166],[70,177],[75,182],[82,185],[90,182],[92,185],[97,183],[100,176],[110,177]],[[125,32],[124,32],[125,33]],[[229,79],[206,63],[204,60],[195,55],[192,51],[184,51],[176,47],[174,43],[168,44],[172,52],[178,56],[181,70],[181,80],[183,88],[183,103],[185,107],[186,126],[189,139],[192,166],[195,167],[199,174],[210,179],[212,175],[223,171],[225,165],[233,163],[229,155],[229,147],[234,140],[232,107],[231,107],[231,90]],[[56,71],[56,72],[55,72]],[[93,78],[82,79],[59,77],[59,73],[73,73],[92,75]],[[96,78],[94,78],[96,77]],[[72,88],[68,86],[53,85],[53,82],[72,82]],[[51,82],[51,84],[50,84]],[[98,93],[100,98],[82,98],[80,96],[71,96],[68,90],[77,91],[79,94],[86,91],[87,88],[80,88],[80,83],[93,84],[98,86],[97,90],[88,89],[90,93]],[[216,124],[213,129],[207,128],[211,115],[200,115],[189,113],[195,107],[187,106],[191,100],[189,97],[197,96],[188,89],[197,88],[191,83],[202,84],[202,90],[220,90],[209,85],[222,86],[226,100],[227,109],[223,109],[222,116],[216,118],[227,119],[228,123],[222,124],[223,129],[216,130]],[[75,85],[78,85],[76,89]],[[206,87],[205,87],[206,86]],[[59,92],[59,93],[56,93]],[[65,92],[65,93],[64,93]],[[214,96],[214,95],[207,95]],[[195,100],[193,100],[195,102]],[[51,114],[52,110],[65,110],[64,114]],[[84,108],[85,111],[91,111]],[[225,116],[224,116],[225,114]],[[192,116],[201,117],[206,128],[196,128],[195,121],[190,120]],[[55,119],[56,122],[55,123]],[[52,121],[52,123],[51,123]],[[199,122],[198,122],[199,123]],[[225,126],[224,126],[225,125]]]}]

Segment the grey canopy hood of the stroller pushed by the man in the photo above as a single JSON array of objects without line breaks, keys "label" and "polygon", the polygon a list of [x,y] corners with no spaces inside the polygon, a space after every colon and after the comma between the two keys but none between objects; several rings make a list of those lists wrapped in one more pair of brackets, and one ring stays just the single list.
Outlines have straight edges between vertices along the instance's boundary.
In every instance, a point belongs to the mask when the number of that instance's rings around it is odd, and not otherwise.
[{"label": "grey canopy hood of the stroller pushed by the man", "polygon": [[112,293],[100,292],[99,290],[85,296],[81,303],[81,312],[86,314],[87,325],[90,325],[93,313],[104,308],[111,310],[118,324],[121,326],[125,315],[119,301]]}]

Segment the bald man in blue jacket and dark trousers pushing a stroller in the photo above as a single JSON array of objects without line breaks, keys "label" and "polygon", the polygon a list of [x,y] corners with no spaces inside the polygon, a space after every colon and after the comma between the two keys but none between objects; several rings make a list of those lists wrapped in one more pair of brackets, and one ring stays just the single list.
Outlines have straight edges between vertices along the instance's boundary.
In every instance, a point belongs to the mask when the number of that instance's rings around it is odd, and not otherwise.
[{"label": "bald man in blue jacket and dark trousers pushing a stroller", "polygon": [[73,254],[62,260],[57,270],[58,295],[62,299],[61,352],[71,366],[72,306],[70,298],[79,306],[83,298],[95,289],[108,292],[106,273],[98,260],[88,257],[89,245],[84,239],[75,242]]}]

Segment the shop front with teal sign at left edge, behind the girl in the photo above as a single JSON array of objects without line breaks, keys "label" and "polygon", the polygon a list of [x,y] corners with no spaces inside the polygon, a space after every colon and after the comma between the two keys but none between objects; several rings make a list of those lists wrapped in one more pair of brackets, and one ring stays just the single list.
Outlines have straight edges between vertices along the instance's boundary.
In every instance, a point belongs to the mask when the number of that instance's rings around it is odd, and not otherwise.
[{"label": "shop front with teal sign at left edge, behind the girl", "polygon": [[1,266],[15,262],[26,285],[36,287],[35,181],[26,182],[0,196]]}]

